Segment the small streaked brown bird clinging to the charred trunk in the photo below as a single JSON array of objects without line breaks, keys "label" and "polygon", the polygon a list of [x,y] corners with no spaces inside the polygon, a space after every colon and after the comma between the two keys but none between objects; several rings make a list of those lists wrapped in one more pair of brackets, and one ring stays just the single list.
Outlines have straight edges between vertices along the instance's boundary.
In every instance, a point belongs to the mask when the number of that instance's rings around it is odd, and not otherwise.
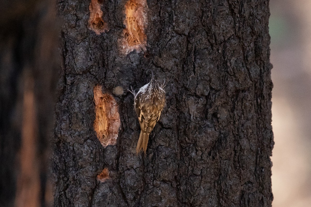
[{"label": "small streaked brown bird clinging to the charred trunk", "polygon": [[143,149],[146,156],[146,150],[149,135],[160,119],[161,112],[165,105],[165,81],[159,85],[154,79],[153,72],[151,81],[139,89],[137,93],[128,90],[134,95],[134,110],[137,114],[141,132],[136,147],[136,155]]}]

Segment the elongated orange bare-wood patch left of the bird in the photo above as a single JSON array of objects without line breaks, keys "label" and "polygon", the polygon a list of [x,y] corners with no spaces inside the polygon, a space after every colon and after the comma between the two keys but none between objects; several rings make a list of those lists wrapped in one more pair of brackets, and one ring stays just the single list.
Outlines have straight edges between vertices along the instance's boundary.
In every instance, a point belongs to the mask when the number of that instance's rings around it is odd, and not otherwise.
[{"label": "elongated orange bare-wood patch left of the bird", "polygon": [[97,138],[104,147],[115,145],[120,127],[117,102],[110,94],[103,94],[101,86],[94,87],[94,102],[94,130]]}]

